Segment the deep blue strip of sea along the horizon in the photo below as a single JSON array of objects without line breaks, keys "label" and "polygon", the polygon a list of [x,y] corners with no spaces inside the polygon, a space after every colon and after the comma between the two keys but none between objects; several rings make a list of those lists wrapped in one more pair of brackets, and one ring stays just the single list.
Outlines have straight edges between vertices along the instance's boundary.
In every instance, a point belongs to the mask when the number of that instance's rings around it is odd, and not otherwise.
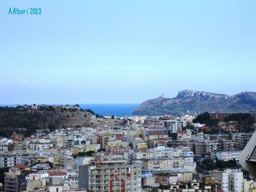
[{"label": "deep blue strip of sea along the horizon", "polygon": [[[75,105],[75,104],[48,104],[48,105]],[[102,116],[124,117],[131,116],[132,112],[140,104],[78,104],[81,109],[91,109],[96,114]],[[0,105],[1,107],[16,107],[17,105]]]}]

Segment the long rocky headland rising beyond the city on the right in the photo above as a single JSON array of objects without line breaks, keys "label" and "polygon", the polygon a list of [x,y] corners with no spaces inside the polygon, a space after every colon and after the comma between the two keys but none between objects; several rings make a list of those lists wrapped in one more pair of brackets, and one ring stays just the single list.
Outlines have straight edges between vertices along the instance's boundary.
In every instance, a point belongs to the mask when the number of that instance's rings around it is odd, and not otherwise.
[{"label": "long rocky headland rising beyond the city on the right", "polygon": [[205,91],[179,91],[172,99],[165,95],[143,102],[132,115],[197,115],[201,112],[256,111],[256,92],[241,92],[236,95],[209,93]]}]

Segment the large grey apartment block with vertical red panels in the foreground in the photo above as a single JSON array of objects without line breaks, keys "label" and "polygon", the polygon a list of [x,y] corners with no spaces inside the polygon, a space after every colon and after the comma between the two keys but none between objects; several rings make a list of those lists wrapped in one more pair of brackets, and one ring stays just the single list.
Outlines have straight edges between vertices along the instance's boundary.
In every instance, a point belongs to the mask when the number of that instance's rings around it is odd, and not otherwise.
[{"label": "large grey apartment block with vertical red panels in the foreground", "polygon": [[95,192],[141,191],[141,164],[125,160],[96,160],[79,166],[79,187]]}]

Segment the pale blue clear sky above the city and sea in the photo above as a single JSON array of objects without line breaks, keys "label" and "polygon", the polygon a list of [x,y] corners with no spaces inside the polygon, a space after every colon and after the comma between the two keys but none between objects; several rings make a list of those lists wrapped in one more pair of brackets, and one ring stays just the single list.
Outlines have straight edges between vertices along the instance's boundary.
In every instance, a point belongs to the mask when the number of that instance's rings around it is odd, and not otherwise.
[{"label": "pale blue clear sky above the city and sea", "polygon": [[[42,8],[10,15],[9,7]],[[256,1],[0,1],[0,104],[256,91]]]}]

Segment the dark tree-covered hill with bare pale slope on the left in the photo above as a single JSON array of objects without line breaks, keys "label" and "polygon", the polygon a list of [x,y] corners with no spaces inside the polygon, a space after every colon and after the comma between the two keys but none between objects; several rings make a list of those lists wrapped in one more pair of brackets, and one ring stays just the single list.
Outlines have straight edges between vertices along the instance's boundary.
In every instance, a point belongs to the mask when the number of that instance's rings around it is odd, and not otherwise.
[{"label": "dark tree-covered hill with bare pale slope on the left", "polygon": [[30,135],[36,129],[60,129],[62,127],[99,127],[123,125],[119,119],[104,119],[91,110],[75,106],[24,105],[0,107],[0,136],[10,136],[12,131]]}]

